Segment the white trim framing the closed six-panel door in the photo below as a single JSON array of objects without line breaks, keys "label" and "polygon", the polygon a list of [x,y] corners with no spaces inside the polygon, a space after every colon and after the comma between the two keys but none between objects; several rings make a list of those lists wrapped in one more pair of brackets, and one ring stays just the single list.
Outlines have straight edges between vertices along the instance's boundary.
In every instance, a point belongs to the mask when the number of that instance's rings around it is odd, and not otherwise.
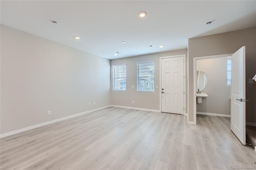
[{"label": "white trim framing the closed six-panel door", "polygon": [[161,59],[163,58],[172,58],[172,57],[183,57],[183,60],[184,60],[184,115],[186,113],[186,54],[182,54],[182,55],[172,55],[172,56],[167,56],[167,57],[160,57],[159,58],[159,65],[160,65],[160,73],[159,73],[159,81],[160,81],[160,87],[159,87],[159,110],[160,112],[162,111],[162,98],[161,98],[161,88],[162,88],[162,79],[161,79],[161,76],[162,76],[162,62],[161,62]]}]

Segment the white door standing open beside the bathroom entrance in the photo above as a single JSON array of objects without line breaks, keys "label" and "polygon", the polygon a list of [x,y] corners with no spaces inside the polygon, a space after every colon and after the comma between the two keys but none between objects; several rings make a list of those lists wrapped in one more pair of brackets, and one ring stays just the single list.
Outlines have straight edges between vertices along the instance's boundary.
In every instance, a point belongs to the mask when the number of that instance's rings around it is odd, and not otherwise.
[{"label": "white door standing open beside the bathroom entrance", "polygon": [[245,46],[230,57],[231,60],[231,130],[245,141]]}]

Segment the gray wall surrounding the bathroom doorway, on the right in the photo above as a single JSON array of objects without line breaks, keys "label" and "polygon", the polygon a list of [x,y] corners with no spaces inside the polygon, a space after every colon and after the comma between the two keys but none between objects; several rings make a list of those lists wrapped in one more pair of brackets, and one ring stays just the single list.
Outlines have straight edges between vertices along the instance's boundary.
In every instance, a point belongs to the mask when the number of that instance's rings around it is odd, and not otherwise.
[{"label": "gray wall surrounding the bathroom doorway, on the right", "polygon": [[248,84],[256,73],[256,27],[188,39],[188,121],[194,121],[193,58],[234,53],[242,46],[246,46],[246,99],[250,100],[246,102],[246,122],[256,123],[256,83]]}]

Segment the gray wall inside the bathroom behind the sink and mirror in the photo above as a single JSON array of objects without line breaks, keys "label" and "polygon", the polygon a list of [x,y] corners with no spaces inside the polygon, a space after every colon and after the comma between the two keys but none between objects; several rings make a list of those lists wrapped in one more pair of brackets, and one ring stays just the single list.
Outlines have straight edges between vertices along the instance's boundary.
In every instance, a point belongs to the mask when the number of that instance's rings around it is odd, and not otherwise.
[{"label": "gray wall inside the bathroom behind the sink and mirror", "polygon": [[207,75],[202,93],[208,97],[196,104],[196,111],[230,115],[230,86],[227,85],[227,57],[196,60],[196,70]]}]

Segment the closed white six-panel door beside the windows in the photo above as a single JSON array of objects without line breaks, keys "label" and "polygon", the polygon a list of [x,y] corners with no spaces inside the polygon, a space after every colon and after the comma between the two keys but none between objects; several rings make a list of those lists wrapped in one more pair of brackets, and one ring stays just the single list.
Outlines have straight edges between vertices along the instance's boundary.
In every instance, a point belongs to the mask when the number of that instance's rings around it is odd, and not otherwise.
[{"label": "closed white six-panel door beside the windows", "polygon": [[161,112],[184,114],[184,57],[161,59]]}]

